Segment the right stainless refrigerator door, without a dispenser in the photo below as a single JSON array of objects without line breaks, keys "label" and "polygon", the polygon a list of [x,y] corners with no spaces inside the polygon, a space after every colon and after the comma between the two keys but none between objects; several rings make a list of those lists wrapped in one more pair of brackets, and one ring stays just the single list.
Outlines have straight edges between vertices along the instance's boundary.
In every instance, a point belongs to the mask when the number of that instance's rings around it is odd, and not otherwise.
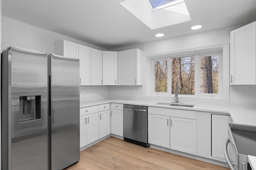
[{"label": "right stainless refrigerator door, without a dispenser", "polygon": [[49,55],[51,60],[52,170],[80,160],[79,60]]}]

